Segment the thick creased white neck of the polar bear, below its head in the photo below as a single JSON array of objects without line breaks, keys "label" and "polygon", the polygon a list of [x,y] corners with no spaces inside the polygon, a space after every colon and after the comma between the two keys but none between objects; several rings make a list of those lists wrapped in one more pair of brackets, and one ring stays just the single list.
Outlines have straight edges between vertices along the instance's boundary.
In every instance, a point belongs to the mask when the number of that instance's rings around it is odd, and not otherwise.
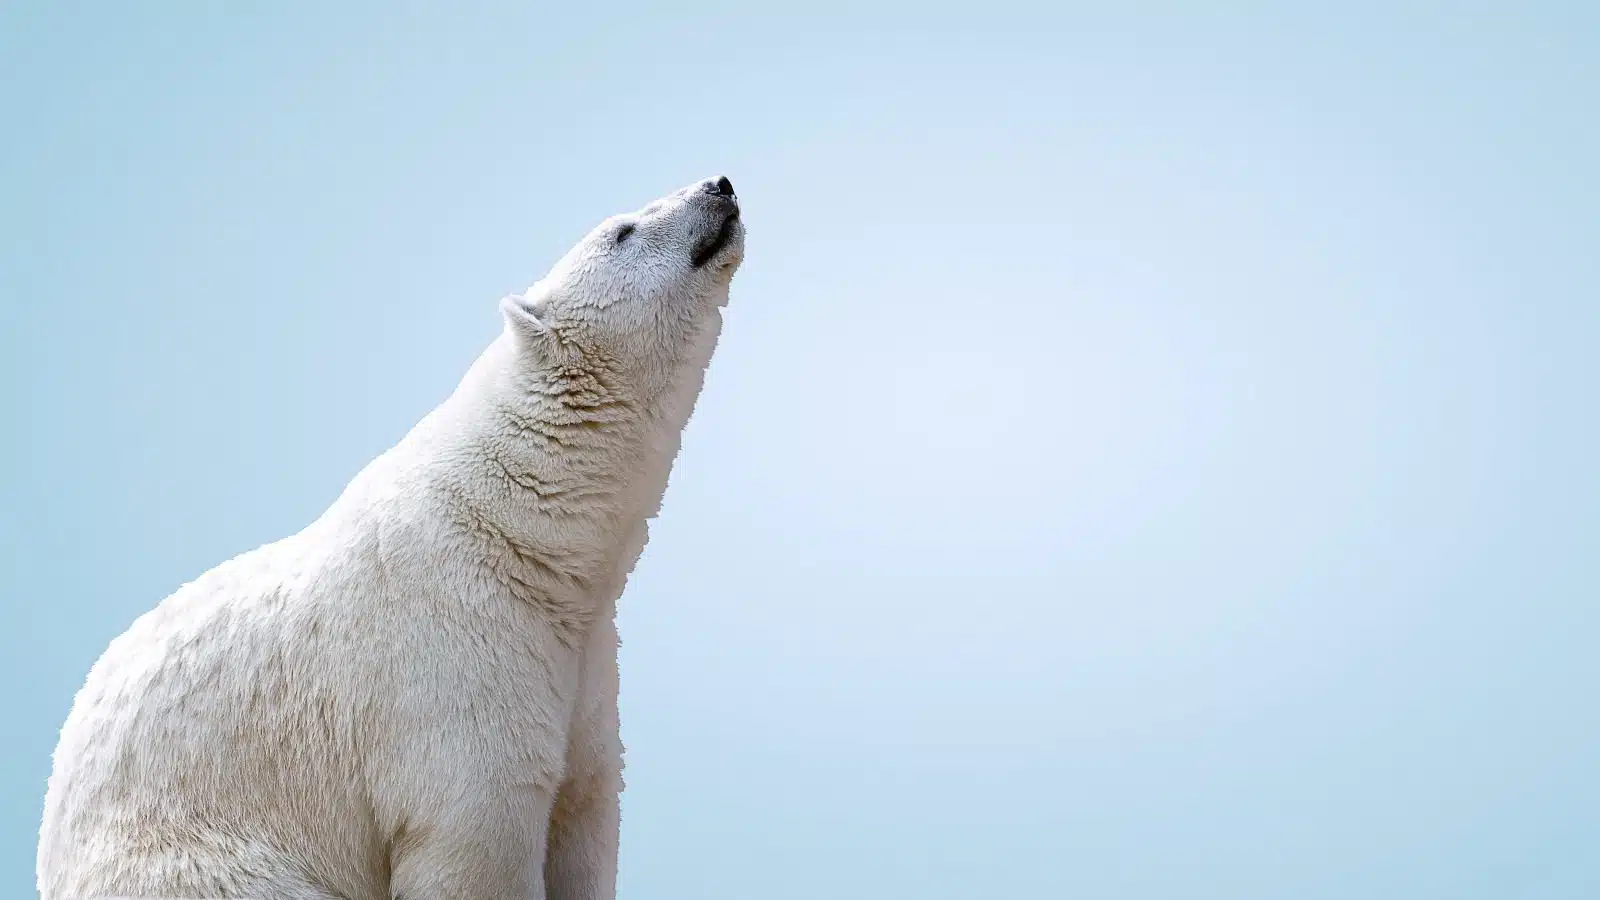
[{"label": "thick creased white neck of the polar bear, below its head", "polygon": [[341,504],[408,498],[512,593],[587,628],[643,551],[720,327],[712,311],[653,391],[605,365],[530,365],[502,333]]}]

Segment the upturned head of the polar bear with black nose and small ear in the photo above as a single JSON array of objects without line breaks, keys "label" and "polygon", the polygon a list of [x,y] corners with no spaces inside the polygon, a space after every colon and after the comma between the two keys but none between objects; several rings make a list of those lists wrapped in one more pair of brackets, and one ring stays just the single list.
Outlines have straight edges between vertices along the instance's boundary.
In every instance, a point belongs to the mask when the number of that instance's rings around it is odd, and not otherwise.
[{"label": "upturned head of the polar bear with black nose and small ear", "polygon": [[742,258],[733,184],[707,178],[605,219],[502,312],[546,362],[579,354],[656,394],[685,365],[710,360],[717,311]]}]

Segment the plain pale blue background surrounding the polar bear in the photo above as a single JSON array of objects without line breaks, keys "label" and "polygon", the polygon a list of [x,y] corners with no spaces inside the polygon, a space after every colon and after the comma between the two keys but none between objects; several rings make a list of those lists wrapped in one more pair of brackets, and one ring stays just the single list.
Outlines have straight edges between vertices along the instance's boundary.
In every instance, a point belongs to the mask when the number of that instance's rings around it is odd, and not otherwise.
[{"label": "plain pale blue background surrounding the polar bear", "polygon": [[1600,897],[1600,6],[131,6],[0,8],[0,895],[114,634],[725,171],[626,897]]}]

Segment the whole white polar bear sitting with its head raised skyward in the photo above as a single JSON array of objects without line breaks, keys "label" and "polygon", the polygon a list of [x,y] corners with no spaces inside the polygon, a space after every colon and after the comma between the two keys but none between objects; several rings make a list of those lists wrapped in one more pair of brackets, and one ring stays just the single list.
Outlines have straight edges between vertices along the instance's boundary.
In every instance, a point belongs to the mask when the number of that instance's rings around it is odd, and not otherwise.
[{"label": "whole white polar bear sitting with its head raised skyward", "polygon": [[45,900],[611,900],[614,605],[744,256],[726,178],[606,219],[302,532],[106,650]]}]

